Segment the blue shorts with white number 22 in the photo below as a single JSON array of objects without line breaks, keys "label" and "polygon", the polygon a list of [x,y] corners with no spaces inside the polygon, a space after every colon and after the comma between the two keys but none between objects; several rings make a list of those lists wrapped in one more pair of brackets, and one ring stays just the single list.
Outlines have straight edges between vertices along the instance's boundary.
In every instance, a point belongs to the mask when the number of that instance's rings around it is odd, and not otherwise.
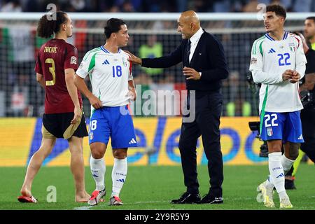
[{"label": "blue shorts with white number 22", "polygon": [[260,118],[260,137],[264,141],[281,139],[283,142],[303,143],[300,111],[265,112]]}]

